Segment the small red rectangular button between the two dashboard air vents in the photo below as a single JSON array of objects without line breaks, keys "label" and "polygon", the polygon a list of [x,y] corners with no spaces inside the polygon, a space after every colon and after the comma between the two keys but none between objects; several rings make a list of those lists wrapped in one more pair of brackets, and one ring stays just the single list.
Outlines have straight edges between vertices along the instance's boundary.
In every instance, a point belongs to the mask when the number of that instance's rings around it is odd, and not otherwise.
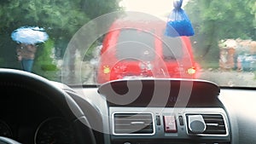
[{"label": "small red rectangular button between the two dashboard air vents", "polygon": [[165,132],[177,133],[175,116],[164,116]]}]

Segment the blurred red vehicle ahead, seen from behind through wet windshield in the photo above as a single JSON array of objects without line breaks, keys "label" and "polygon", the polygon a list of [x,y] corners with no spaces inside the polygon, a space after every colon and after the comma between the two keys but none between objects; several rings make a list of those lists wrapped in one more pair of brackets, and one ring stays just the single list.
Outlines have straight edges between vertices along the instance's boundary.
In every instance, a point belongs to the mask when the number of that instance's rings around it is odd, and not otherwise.
[{"label": "blurred red vehicle ahead, seen from behind through wet windshield", "polygon": [[189,37],[167,37],[158,20],[117,20],[103,39],[96,82],[122,78],[197,78]]}]

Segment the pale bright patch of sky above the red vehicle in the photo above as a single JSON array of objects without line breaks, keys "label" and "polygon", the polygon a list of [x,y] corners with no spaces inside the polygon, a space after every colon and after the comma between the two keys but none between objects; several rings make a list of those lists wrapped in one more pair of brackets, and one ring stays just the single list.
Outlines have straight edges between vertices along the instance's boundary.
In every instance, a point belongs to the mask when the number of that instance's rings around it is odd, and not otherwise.
[{"label": "pale bright patch of sky above the red vehicle", "polygon": [[[183,6],[187,1],[183,0]],[[139,11],[158,17],[166,17],[173,9],[172,3],[173,0],[123,0],[120,6],[129,11]]]}]

